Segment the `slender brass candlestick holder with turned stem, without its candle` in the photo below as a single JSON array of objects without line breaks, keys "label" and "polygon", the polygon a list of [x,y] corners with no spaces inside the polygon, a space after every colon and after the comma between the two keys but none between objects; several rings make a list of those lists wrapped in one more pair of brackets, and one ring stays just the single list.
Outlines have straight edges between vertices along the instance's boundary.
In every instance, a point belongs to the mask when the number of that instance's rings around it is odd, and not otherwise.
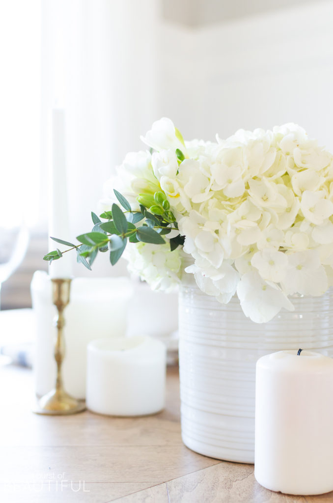
[{"label": "slender brass candlestick holder with turned stem, without its candle", "polygon": [[61,376],[61,365],[64,358],[64,337],[62,329],[65,324],[65,318],[63,311],[69,303],[71,280],[52,279],[51,281],[53,304],[58,310],[58,314],[54,320],[54,324],[57,328],[57,337],[54,348],[54,358],[57,364],[57,377],[55,381],[55,388],[39,399],[34,412],[37,414],[50,415],[75,414],[76,412],[81,412],[86,409],[85,402],[76,400],[66,393],[63,388]]}]

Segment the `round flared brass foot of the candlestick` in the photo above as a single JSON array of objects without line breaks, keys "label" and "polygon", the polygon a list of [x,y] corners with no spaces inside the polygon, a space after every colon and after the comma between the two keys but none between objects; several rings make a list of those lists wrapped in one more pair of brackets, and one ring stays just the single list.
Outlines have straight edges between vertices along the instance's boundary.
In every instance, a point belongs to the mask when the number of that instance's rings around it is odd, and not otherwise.
[{"label": "round flared brass foot of the candlestick", "polygon": [[38,400],[33,411],[36,414],[66,415],[82,412],[85,409],[85,401],[76,400],[65,391],[53,389]]}]

